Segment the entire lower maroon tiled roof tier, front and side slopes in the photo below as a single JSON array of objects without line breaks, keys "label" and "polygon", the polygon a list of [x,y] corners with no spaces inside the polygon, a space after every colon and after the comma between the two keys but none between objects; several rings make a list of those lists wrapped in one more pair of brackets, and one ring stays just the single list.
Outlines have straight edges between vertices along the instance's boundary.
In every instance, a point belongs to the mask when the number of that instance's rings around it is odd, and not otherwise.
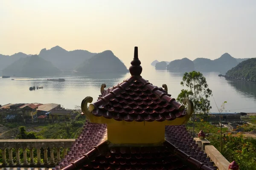
[{"label": "entire lower maroon tiled roof tier, front and side slopes", "polygon": [[119,146],[105,141],[106,125],[86,122],[56,170],[216,170],[184,126],[166,126],[166,142],[157,146]]}]

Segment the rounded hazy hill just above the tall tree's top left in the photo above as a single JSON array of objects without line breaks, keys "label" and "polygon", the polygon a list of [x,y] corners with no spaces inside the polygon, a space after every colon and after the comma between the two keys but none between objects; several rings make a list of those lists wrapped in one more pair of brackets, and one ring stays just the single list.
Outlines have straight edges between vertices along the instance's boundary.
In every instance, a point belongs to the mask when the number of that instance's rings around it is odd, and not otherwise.
[{"label": "rounded hazy hill just above the tall tree's top left", "polygon": [[195,70],[194,62],[188,58],[176,59],[167,65],[167,70],[172,72],[189,72]]}]

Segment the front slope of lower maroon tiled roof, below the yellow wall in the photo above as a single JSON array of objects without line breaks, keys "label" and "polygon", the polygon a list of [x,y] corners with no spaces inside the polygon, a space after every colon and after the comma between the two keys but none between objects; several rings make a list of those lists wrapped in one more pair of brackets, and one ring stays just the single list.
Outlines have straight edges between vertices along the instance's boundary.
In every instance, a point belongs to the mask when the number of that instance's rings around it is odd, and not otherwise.
[{"label": "front slope of lower maroon tiled roof, below the yellow wall", "polygon": [[212,170],[170,142],[159,146],[112,146],[102,142],[64,170]]}]

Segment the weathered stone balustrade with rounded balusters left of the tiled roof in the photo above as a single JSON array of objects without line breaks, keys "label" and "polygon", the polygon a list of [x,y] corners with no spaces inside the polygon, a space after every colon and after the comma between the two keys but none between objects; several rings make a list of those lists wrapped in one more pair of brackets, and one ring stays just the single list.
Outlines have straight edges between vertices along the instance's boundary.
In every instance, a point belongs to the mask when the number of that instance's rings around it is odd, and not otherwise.
[{"label": "weathered stone balustrade with rounded balusters left of the tiled roof", "polygon": [[0,140],[0,167],[54,167],[76,139]]}]

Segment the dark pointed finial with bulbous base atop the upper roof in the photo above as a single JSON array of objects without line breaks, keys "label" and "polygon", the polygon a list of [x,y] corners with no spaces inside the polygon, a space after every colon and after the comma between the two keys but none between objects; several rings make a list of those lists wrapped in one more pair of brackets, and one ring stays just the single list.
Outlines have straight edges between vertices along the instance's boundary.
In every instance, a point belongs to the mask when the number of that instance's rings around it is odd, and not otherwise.
[{"label": "dark pointed finial with bulbous base atop the upper roof", "polygon": [[134,47],[134,59],[131,61],[131,66],[129,68],[132,76],[140,76],[142,72],[140,59],[138,58],[138,47]]}]

